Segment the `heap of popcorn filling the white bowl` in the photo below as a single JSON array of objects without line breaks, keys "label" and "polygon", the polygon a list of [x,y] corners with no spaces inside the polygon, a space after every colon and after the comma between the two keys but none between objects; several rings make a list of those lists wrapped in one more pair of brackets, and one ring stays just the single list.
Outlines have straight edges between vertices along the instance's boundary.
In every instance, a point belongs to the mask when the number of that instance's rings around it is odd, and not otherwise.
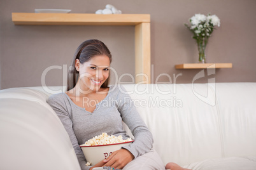
[{"label": "heap of popcorn filling the white bowl", "polygon": [[108,145],[108,144],[114,144],[114,143],[123,143],[126,141],[132,141],[131,138],[128,138],[127,140],[123,140],[122,136],[109,136],[107,133],[102,133],[99,136],[95,136],[94,138],[88,140],[85,142],[85,144],[81,146],[96,146],[96,145]]}]

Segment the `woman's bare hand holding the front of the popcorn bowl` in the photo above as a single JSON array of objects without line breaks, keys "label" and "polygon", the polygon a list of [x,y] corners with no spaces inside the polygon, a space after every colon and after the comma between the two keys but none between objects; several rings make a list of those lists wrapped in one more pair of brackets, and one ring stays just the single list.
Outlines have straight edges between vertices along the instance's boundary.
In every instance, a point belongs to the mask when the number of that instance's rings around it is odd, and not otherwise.
[{"label": "woman's bare hand holding the front of the popcorn bowl", "polygon": [[106,164],[104,166],[110,166],[117,169],[122,169],[126,164],[134,159],[134,155],[124,148],[113,152],[108,159],[103,160]]}]

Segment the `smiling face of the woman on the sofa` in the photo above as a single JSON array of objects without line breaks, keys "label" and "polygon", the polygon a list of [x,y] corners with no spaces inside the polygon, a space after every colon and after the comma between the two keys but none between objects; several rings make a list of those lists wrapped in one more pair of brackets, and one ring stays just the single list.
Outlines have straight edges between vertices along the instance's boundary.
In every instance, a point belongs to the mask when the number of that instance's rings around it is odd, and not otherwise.
[{"label": "smiling face of the woman on the sofa", "polygon": [[98,91],[110,75],[110,58],[106,55],[93,56],[83,64],[76,59],[76,70],[79,71],[80,88],[83,91]]}]

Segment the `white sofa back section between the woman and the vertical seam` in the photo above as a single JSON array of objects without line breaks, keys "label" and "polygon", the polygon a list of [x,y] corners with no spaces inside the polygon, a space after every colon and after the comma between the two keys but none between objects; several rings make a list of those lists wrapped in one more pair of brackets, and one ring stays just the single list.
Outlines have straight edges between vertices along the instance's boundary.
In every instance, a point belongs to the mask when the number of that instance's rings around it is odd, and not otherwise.
[{"label": "white sofa back section between the woman and the vertical seam", "polygon": [[[184,166],[190,162],[222,157],[218,114],[207,84],[127,84],[139,114],[153,134],[154,149],[163,162]],[[194,92],[192,91],[194,88]]]}]

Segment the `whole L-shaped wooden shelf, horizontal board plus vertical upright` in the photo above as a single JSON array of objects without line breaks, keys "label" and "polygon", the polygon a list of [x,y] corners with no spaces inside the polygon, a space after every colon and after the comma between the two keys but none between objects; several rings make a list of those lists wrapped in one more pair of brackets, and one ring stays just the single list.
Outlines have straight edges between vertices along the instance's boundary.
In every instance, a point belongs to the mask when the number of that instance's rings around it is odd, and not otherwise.
[{"label": "whole L-shaped wooden shelf, horizontal board plus vertical upright", "polygon": [[15,25],[135,25],[135,82],[151,82],[150,15],[92,13],[12,13]]}]

